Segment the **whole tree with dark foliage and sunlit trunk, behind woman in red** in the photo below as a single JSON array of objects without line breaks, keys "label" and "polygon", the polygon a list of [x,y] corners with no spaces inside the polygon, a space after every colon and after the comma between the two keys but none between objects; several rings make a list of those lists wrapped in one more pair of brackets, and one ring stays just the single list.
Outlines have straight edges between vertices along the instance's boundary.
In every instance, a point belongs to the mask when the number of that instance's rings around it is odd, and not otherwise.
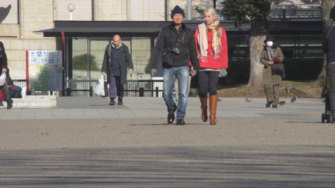
[{"label": "whole tree with dark foliage and sunlit trunk, behind woman in red", "polygon": [[[221,11],[225,19],[233,20],[237,26],[251,23],[249,48],[251,66],[248,86],[262,87],[263,65],[260,63],[260,53],[271,27],[271,22],[269,22],[271,4],[278,4],[281,1],[283,0],[225,0],[222,2]],[[257,91],[257,89],[253,91]]]}]

